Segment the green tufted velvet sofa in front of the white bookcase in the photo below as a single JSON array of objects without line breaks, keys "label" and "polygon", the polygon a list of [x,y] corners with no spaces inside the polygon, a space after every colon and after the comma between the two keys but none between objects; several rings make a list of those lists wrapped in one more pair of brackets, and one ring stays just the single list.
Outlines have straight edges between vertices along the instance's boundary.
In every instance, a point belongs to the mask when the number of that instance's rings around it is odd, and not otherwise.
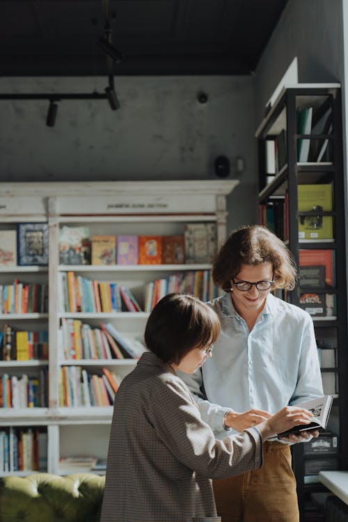
[{"label": "green tufted velvet sofa in front of the white bookcase", "polygon": [[0,478],[0,522],[100,522],[105,477],[34,473]]}]

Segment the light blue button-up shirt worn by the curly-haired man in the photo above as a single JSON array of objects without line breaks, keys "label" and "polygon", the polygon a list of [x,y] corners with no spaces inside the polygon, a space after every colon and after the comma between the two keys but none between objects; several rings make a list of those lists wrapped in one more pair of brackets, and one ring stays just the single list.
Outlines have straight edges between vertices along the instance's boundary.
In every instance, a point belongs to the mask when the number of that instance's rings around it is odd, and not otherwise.
[{"label": "light blue button-up shirt worn by the curly-haired man", "polygon": [[229,294],[208,303],[219,315],[221,334],[193,375],[180,372],[196,396],[203,420],[217,438],[226,437],[223,417],[257,408],[269,413],[323,395],[313,320],[269,294],[253,329]]}]

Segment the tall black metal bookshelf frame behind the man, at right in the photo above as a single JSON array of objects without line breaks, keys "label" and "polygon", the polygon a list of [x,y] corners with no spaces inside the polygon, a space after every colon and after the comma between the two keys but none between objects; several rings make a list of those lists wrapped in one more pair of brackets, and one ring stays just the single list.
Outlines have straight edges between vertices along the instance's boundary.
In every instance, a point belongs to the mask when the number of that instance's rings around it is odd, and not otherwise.
[{"label": "tall black metal bookshelf frame behind the man, at right", "polygon": [[[332,133],[331,134],[299,134],[297,129],[297,109],[313,106],[313,116],[315,110],[317,114],[324,115],[331,110]],[[278,157],[282,168],[274,175],[269,182],[269,173],[266,168],[266,145],[265,141],[270,140],[276,143],[282,129],[285,129],[285,155],[281,159]],[[318,129],[319,130],[319,129]],[[277,134],[277,132],[279,134]],[[317,293],[335,295],[335,313],[333,317],[313,317],[315,331],[320,331],[320,337],[325,335],[330,339],[333,346],[319,346],[322,350],[335,350],[335,361],[333,367],[321,368],[323,374],[335,372],[338,375],[338,395],[333,400],[335,411],[338,411],[339,419],[339,443],[340,452],[332,454],[330,457],[337,458],[341,469],[348,469],[348,446],[343,441],[348,440],[348,379],[345,372],[348,367],[347,346],[347,292],[346,292],[346,259],[345,259],[345,189],[342,176],[342,104],[340,87],[318,86],[310,84],[308,86],[290,86],[285,88],[271,108],[267,117],[264,118],[255,134],[258,139],[259,166],[260,166],[260,191],[258,201],[260,205],[274,206],[278,199],[284,200],[287,209],[287,219],[283,216],[284,223],[287,222],[287,239],[285,244],[292,252],[296,265],[299,266],[300,250],[333,250],[335,251],[335,288],[315,288],[300,287],[298,284],[294,292],[285,292],[285,300],[295,305],[299,305],[299,294]],[[282,136],[280,136],[282,137]],[[278,144],[282,145],[278,137]],[[311,142],[317,140],[328,141],[328,146],[333,144],[327,157],[329,161],[297,161],[297,142],[300,139],[308,139]],[[319,145],[320,146],[320,145]],[[267,147],[267,152],[269,145]],[[319,150],[319,149],[317,149]],[[283,151],[284,152],[284,151]],[[281,160],[281,161],[280,161]],[[277,168],[277,164],[276,164]],[[332,211],[308,211],[299,212],[298,192],[299,184],[333,184],[333,210]],[[278,204],[278,206],[281,203]],[[276,214],[275,214],[276,216]],[[333,219],[334,239],[315,239],[299,240],[299,216],[331,216]],[[282,238],[284,239],[284,237]],[[327,333],[325,333],[325,331]],[[305,522],[308,491],[325,491],[322,484],[304,483],[304,459],[310,456],[303,454],[302,444],[292,446],[294,473],[297,480],[297,491],[299,498],[299,509],[301,522]],[[325,454],[320,455],[324,458]],[[329,455],[328,455],[329,457]],[[319,455],[311,456],[319,458]],[[309,519],[308,519],[309,520]]]}]

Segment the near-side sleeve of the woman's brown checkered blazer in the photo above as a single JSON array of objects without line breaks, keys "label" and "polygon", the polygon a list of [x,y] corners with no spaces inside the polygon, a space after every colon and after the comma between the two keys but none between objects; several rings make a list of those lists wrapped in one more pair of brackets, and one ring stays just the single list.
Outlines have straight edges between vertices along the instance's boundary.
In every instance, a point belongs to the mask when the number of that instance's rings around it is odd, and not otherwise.
[{"label": "near-side sleeve of the woman's brown checkered blazer", "polygon": [[208,478],[239,475],[262,465],[262,440],[255,429],[216,440],[200,418],[189,389],[178,377],[152,388],[148,420],[184,466]]}]

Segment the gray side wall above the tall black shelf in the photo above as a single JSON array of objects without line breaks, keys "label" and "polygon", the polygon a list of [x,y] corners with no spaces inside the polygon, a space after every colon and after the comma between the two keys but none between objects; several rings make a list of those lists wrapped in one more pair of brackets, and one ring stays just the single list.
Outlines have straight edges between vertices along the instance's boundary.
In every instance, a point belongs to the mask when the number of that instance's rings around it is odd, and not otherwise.
[{"label": "gray side wall above the tall black shelf", "polygon": [[294,56],[299,82],[343,80],[342,1],[290,0],[255,74],[256,120]]}]

